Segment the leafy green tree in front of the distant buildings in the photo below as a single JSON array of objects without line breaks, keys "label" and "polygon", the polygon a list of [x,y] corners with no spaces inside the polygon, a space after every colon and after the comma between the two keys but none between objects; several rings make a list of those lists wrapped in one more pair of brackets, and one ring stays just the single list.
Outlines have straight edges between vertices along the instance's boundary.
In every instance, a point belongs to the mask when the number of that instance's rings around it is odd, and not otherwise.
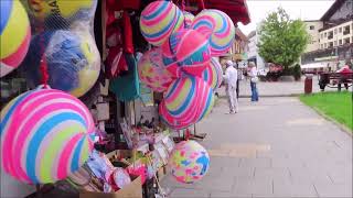
[{"label": "leafy green tree in front of the distant buildings", "polygon": [[259,55],[268,63],[282,65],[285,73],[299,61],[310,35],[301,20],[291,20],[282,8],[267,15],[259,28]]}]

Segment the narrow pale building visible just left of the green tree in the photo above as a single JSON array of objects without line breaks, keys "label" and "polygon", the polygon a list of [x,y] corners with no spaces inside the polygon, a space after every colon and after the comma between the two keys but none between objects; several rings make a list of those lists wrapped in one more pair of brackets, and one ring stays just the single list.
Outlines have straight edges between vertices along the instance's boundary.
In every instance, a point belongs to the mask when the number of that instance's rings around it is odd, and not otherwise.
[{"label": "narrow pale building visible just left of the green tree", "polygon": [[247,52],[247,61],[248,62],[254,62],[255,65],[257,66],[257,68],[259,70],[265,70],[265,62],[263,59],[263,57],[258,54],[258,34],[256,31],[253,31],[249,33],[249,35],[247,36],[248,38],[248,52]]}]

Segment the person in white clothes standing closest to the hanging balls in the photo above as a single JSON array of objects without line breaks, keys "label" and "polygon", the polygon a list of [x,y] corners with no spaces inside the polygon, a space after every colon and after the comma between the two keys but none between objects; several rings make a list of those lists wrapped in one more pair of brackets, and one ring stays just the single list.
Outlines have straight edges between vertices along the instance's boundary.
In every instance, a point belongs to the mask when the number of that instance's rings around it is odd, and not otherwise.
[{"label": "person in white clothes standing closest to the hanging balls", "polygon": [[229,113],[232,114],[238,112],[238,99],[236,97],[236,81],[238,74],[236,68],[234,68],[232,61],[227,61],[225,65],[227,68],[223,78],[226,81],[226,94],[228,97]]}]

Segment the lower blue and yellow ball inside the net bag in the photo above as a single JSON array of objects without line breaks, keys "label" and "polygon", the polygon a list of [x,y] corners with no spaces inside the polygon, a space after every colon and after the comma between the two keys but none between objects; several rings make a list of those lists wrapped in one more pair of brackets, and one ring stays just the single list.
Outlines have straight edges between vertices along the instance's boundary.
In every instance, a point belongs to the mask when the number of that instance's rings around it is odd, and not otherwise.
[{"label": "lower blue and yellow ball inside the net bag", "polygon": [[49,85],[54,89],[81,97],[98,79],[100,57],[88,32],[47,31],[35,35],[21,66],[32,88],[42,84],[42,57],[47,65]]}]

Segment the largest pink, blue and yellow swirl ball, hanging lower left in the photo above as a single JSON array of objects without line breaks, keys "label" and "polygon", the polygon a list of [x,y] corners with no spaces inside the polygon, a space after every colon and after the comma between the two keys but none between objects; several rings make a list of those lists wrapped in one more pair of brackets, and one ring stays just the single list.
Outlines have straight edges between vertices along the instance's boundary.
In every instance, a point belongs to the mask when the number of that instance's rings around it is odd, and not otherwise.
[{"label": "largest pink, blue and yellow swirl ball, hanging lower left", "polygon": [[77,170],[93,150],[84,103],[55,89],[34,89],[1,111],[1,166],[20,182],[54,183]]}]

